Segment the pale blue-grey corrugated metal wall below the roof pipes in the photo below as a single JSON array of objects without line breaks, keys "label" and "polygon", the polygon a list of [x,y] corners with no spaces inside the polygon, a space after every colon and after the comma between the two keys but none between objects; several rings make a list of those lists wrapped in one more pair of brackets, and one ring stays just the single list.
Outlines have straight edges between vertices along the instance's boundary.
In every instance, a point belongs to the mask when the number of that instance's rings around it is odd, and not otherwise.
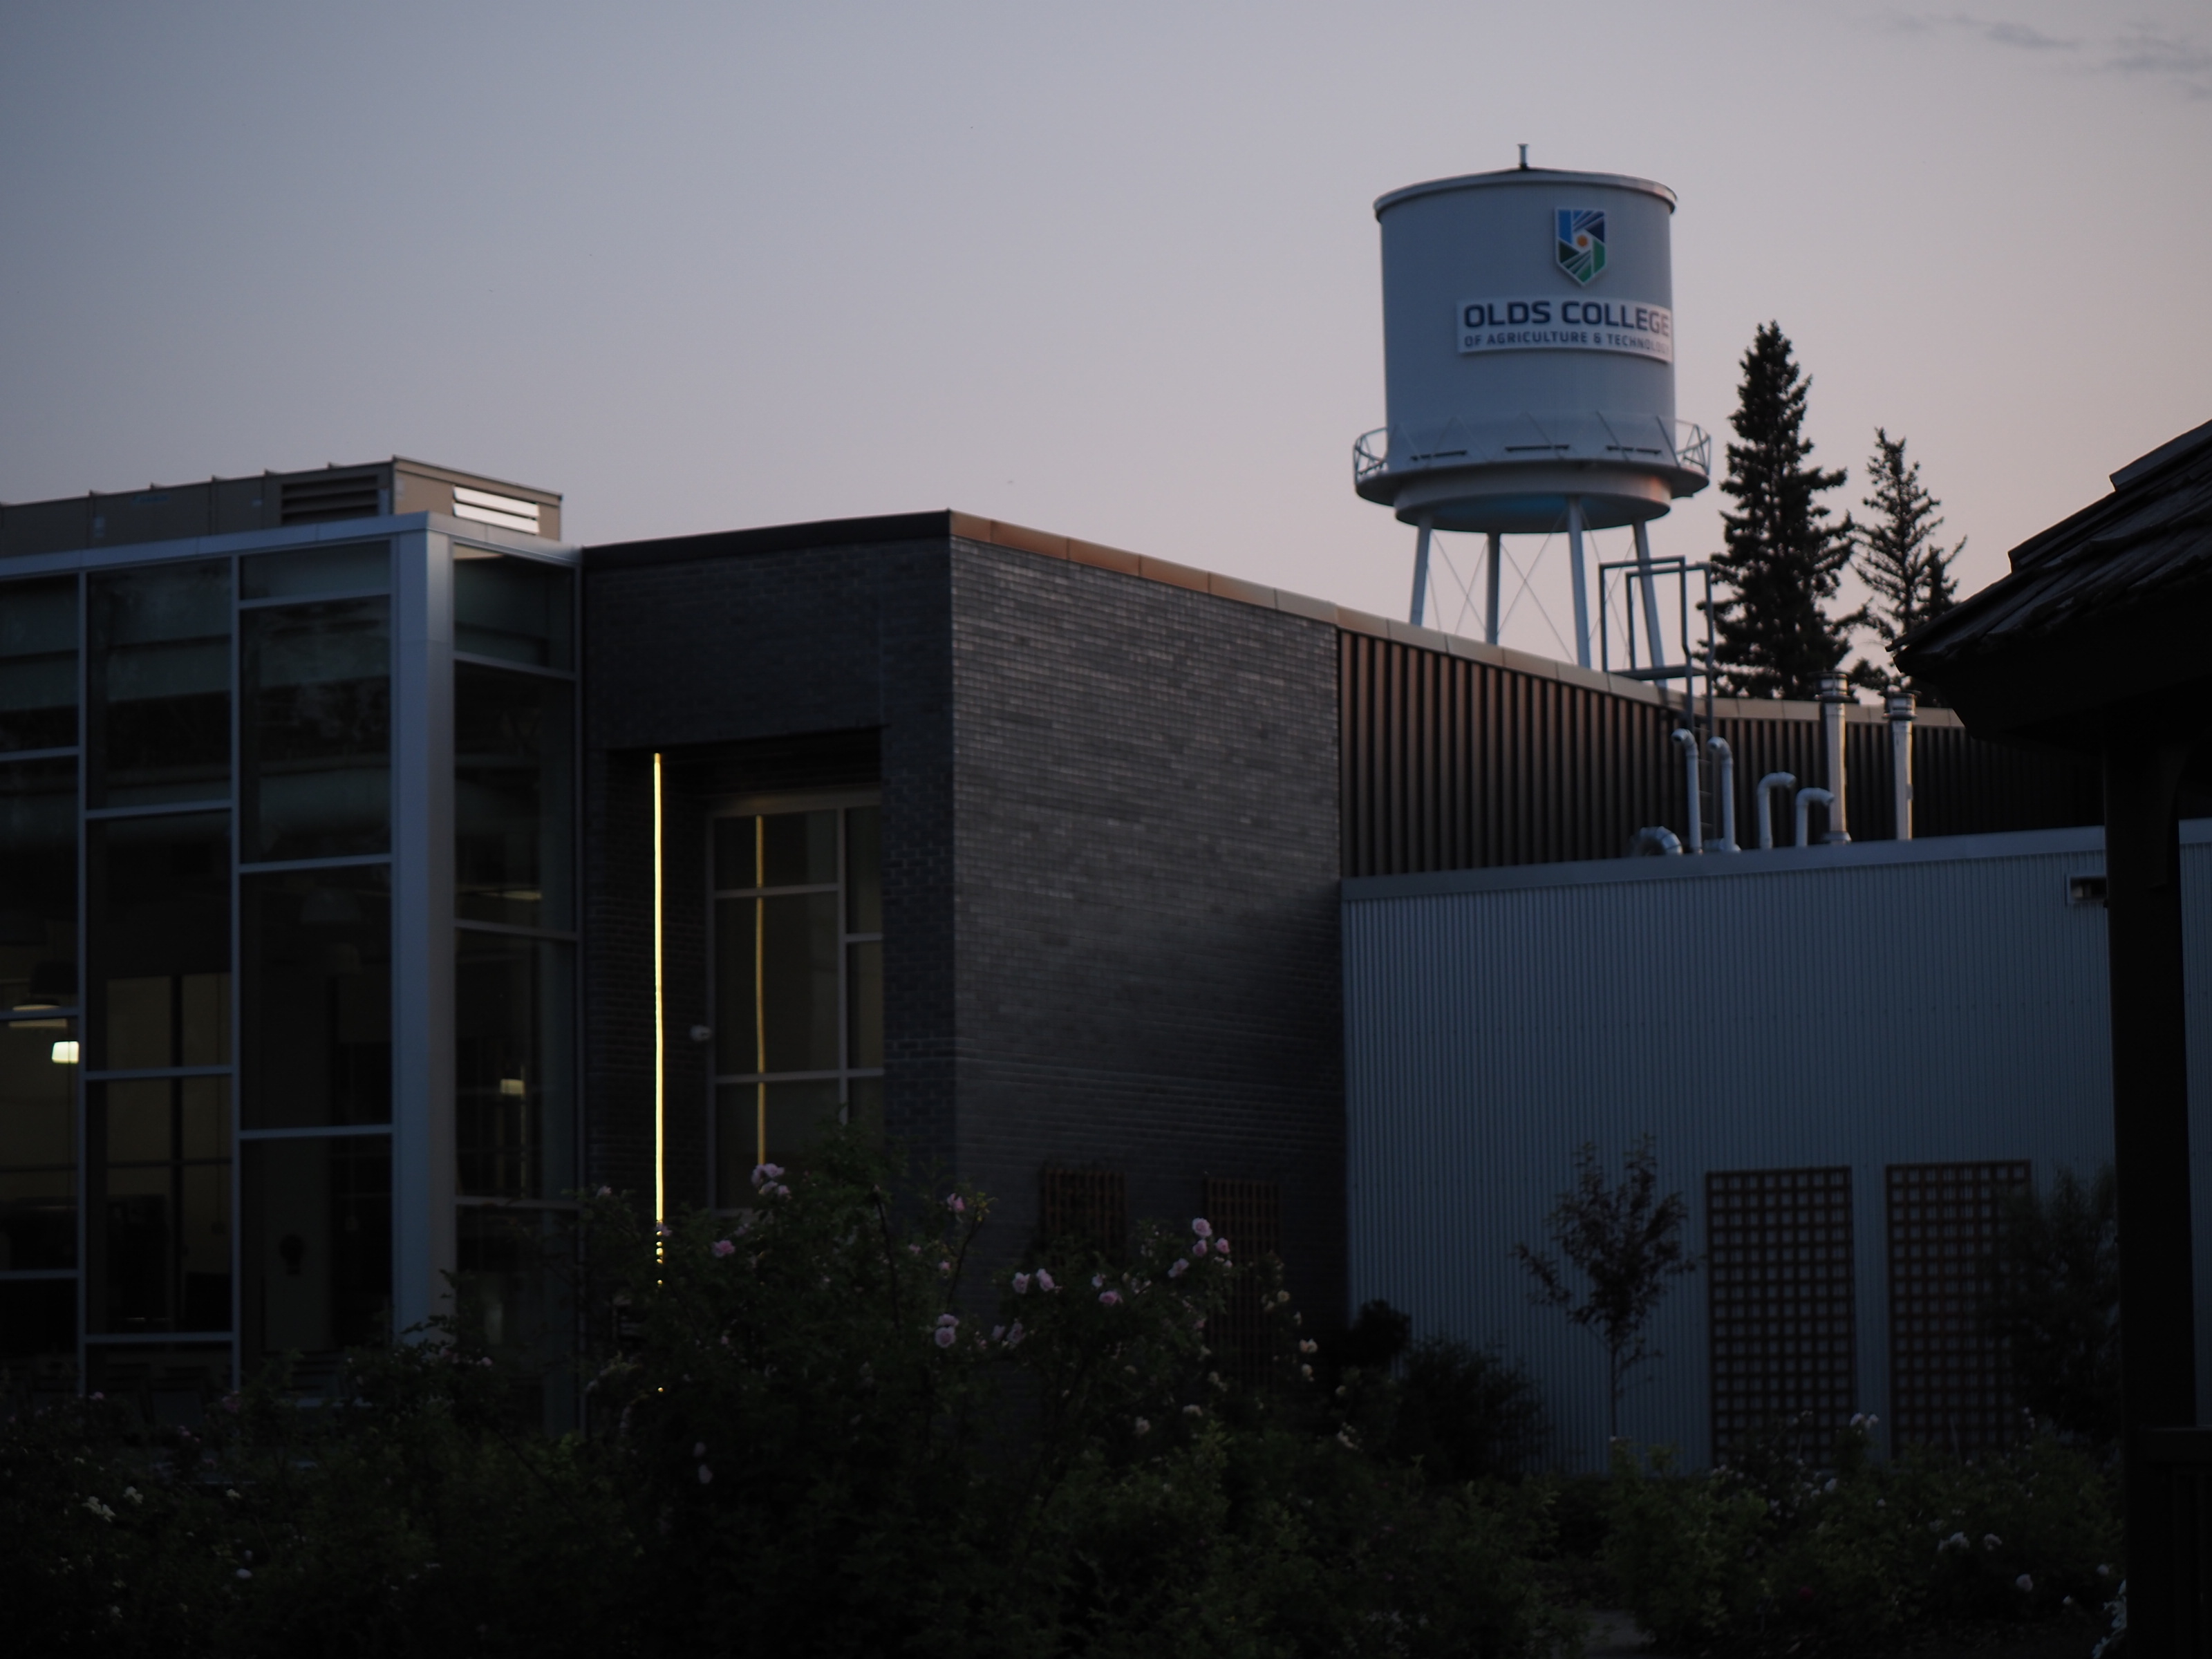
[{"label": "pale blue-grey corrugated metal wall below the roof pipes", "polygon": [[[2208,841],[2185,847],[2199,1206],[2212,1201]],[[2066,902],[2068,876],[2101,869],[2101,832],[1869,854],[1389,883],[1416,889],[1400,896],[1349,885],[1352,1305],[1385,1296],[1416,1332],[1502,1345],[1542,1383],[1559,1455],[1597,1467],[1601,1352],[1528,1303],[1511,1259],[1546,1243],[1575,1148],[1595,1139],[1617,1164],[1650,1130],[1699,1250],[1708,1170],[1849,1166],[1860,1400],[1887,1416],[1885,1166],[2088,1170],[2110,1157],[2110,1060],[2104,909]],[[1475,889],[1444,891],[1455,880]],[[1694,1462],[1710,1458],[1705,1312],[1703,1274],[1677,1281],[1655,1321],[1668,1358],[1624,1411],[1626,1433]]]}]

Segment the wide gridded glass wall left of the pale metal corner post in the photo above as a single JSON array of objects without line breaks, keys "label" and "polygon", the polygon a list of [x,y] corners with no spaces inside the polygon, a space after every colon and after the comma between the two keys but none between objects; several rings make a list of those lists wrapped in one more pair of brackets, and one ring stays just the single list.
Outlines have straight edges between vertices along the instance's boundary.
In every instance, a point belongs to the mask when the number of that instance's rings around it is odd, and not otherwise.
[{"label": "wide gridded glass wall left of the pale metal corner post", "polygon": [[380,540],[0,582],[9,1389],[389,1329],[389,595]]}]

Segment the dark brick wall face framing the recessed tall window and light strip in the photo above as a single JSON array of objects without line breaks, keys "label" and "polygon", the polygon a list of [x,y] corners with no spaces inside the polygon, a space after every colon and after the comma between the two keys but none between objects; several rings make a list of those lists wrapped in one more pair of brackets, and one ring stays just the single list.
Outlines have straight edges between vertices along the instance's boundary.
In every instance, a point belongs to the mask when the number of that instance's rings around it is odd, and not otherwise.
[{"label": "dark brick wall face framing the recessed tall window and light strip", "polygon": [[[953,1161],[947,560],[942,538],[586,555],[591,1179],[650,1186],[650,754],[666,757],[670,1197],[703,1201],[708,1053],[684,1035],[708,1022],[703,816],[748,787],[854,781],[856,732],[880,741],[887,1124],[922,1161]],[[843,770],[810,774],[794,739]]]}]

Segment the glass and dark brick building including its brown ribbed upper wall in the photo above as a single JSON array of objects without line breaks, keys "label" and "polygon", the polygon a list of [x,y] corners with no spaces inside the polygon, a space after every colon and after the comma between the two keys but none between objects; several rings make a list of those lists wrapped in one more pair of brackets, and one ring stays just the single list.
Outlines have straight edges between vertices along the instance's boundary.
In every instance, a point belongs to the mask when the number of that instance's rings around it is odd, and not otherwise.
[{"label": "glass and dark brick building including its brown ribbed upper wall", "polygon": [[[1816,772],[1816,706],[1708,714],[1741,823]],[[1004,1252],[1206,1210],[1340,1318],[1340,880],[1688,832],[1677,719],[962,513],[580,549],[407,460],[0,507],[0,1365],[195,1398],[451,1274],[562,1422],[511,1223],[852,1117]],[[1889,743],[1849,710],[1860,841]],[[2097,818],[1913,745],[1922,834]]]}]

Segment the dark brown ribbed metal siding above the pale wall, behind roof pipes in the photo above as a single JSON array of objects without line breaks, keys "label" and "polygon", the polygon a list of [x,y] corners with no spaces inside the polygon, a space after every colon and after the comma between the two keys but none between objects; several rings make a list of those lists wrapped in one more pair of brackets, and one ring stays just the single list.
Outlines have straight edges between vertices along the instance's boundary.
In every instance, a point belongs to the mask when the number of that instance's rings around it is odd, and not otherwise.
[{"label": "dark brown ribbed metal siding above the pale wall, behind roof pipes", "polygon": [[[1338,635],[1343,869],[1398,876],[1564,858],[1617,858],[1644,825],[1688,832],[1674,714],[1655,703],[1394,639]],[[1736,838],[1756,841],[1765,772],[1823,781],[1820,726],[1721,721],[1736,757]],[[1889,730],[1845,741],[1858,841],[1887,841]],[[1708,770],[1708,825],[1714,779]],[[2046,830],[2101,821],[2095,768],[1997,748],[1955,726],[1913,737],[1916,834]],[[1778,814],[1778,838],[1790,814]]]}]

